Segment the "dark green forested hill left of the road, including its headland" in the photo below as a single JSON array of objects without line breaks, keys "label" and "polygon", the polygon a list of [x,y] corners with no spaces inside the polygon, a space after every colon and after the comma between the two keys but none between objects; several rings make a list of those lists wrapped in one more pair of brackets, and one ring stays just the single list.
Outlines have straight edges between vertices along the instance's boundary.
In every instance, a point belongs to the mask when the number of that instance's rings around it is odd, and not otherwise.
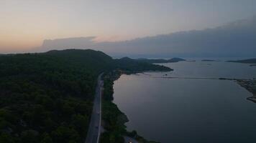
[{"label": "dark green forested hill left of the road, including its headland", "polygon": [[68,49],[0,56],[0,142],[84,142],[102,71],[170,70]]}]

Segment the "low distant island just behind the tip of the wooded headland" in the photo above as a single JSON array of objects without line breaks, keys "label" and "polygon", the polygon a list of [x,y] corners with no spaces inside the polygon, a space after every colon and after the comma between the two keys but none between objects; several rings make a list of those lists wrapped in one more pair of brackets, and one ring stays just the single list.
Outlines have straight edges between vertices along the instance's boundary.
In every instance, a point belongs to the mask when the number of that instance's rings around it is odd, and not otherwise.
[{"label": "low distant island just behind the tip of the wooded headland", "polygon": [[178,61],[186,61],[186,59],[181,59],[181,58],[172,58],[172,59],[145,59],[145,58],[140,58],[140,59],[135,59],[137,61],[142,61],[146,63],[173,63],[173,62],[178,62]]}]

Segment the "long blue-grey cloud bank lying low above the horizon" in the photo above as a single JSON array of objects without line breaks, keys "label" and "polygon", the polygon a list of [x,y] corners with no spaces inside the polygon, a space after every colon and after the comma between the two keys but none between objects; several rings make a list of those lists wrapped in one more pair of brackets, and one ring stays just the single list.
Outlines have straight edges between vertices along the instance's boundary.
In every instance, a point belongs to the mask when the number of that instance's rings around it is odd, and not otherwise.
[{"label": "long blue-grey cloud bank lying low above the horizon", "polygon": [[214,29],[180,31],[129,41],[94,42],[94,36],[45,40],[42,49],[97,49],[111,55],[255,56],[256,16]]}]

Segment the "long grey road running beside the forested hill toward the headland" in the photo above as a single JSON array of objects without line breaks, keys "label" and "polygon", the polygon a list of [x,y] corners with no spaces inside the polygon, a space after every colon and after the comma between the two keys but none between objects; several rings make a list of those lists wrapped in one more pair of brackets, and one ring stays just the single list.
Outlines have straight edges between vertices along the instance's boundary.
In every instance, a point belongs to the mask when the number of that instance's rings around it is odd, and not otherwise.
[{"label": "long grey road running beside the forested hill toward the headland", "polygon": [[95,97],[93,101],[93,111],[91,113],[91,121],[89,124],[86,143],[99,143],[101,135],[101,94],[104,82],[101,80],[101,73],[98,77],[98,84],[96,87]]}]

